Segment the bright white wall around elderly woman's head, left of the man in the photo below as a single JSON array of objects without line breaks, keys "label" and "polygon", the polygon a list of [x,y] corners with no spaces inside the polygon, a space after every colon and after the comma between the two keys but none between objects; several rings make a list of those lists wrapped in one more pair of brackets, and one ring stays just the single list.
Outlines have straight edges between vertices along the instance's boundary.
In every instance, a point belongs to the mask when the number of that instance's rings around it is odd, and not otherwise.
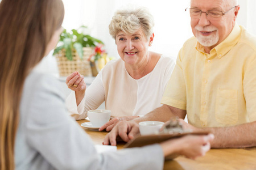
[{"label": "bright white wall around elderly woman's head, left of the man", "polygon": [[[66,9],[63,27],[72,29],[81,24],[88,25],[90,34],[104,41],[107,52],[113,57],[119,56],[115,42],[109,35],[108,25],[114,12],[129,4],[146,6],[154,16],[155,40],[150,50],[176,57],[183,42],[192,36],[189,16],[184,11],[189,6],[189,0],[175,1],[175,3],[166,0],[63,0],[63,2]],[[74,3],[80,3],[81,6],[77,8]],[[71,8],[76,11],[71,12]]]}]

